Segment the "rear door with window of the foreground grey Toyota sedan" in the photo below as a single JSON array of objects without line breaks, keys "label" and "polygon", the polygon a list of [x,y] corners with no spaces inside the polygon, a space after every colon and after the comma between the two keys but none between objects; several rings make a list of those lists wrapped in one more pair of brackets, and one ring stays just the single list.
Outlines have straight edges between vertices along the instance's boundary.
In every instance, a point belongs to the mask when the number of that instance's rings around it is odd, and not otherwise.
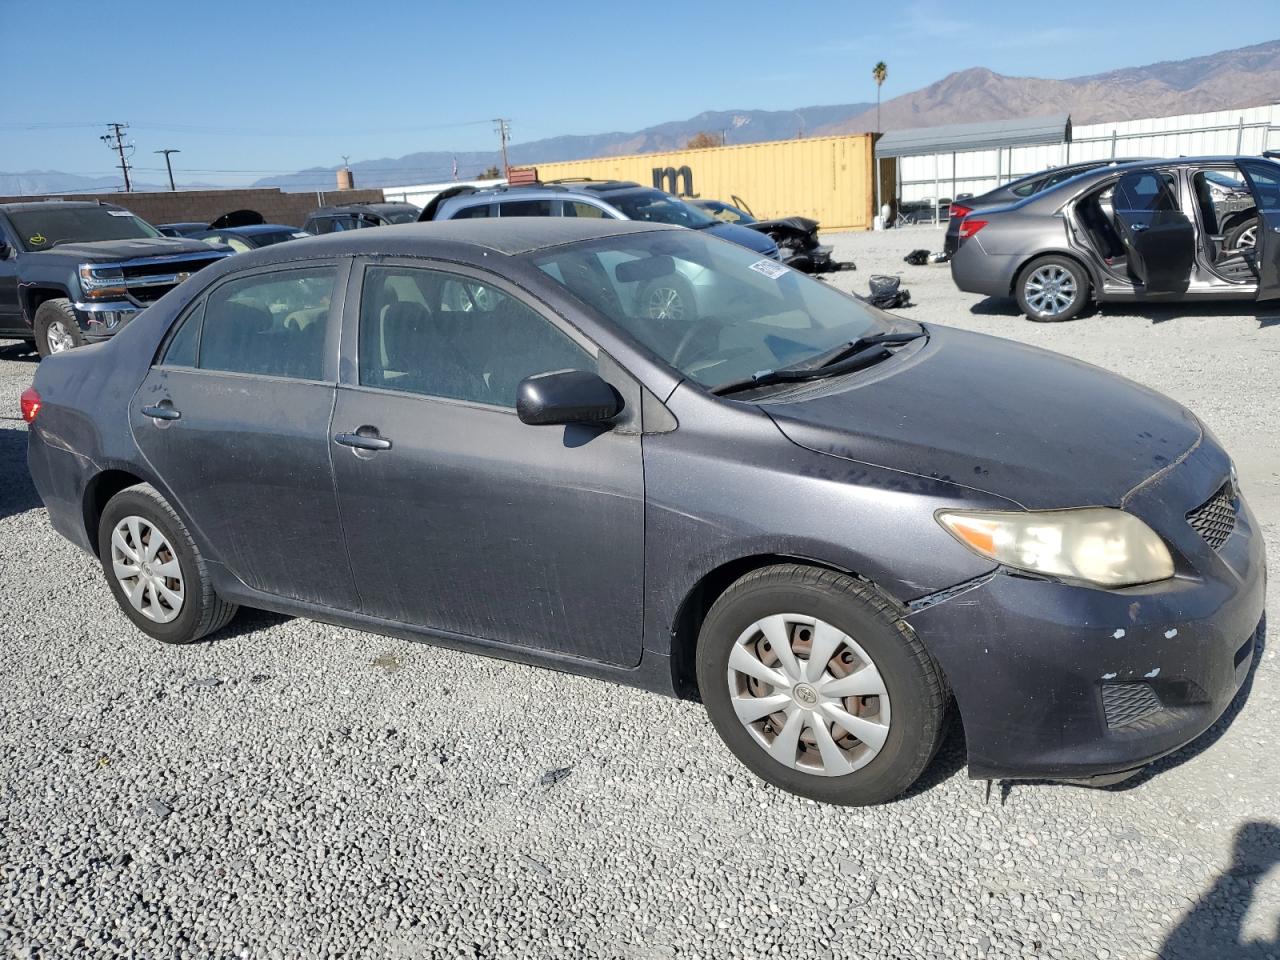
[{"label": "rear door with window of the foreground grey Toyota sedan", "polygon": [[329,465],[344,262],[198,298],[133,398],[138,447],[214,553],[268,594],[357,608]]}]

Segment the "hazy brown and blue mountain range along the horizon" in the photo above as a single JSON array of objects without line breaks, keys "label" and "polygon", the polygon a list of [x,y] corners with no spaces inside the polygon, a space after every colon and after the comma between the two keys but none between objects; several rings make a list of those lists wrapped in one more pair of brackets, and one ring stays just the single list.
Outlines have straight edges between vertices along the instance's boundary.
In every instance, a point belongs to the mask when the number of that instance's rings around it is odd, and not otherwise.
[{"label": "hazy brown and blue mountain range along the horizon", "polygon": [[[1130,67],[1070,79],[1006,77],[974,67],[901,96],[881,106],[884,131],[978,123],[1016,116],[1069,113],[1075,124],[1169,116],[1268,104],[1280,91],[1280,40],[1226,50],[1188,60]],[[796,136],[828,136],[876,129],[874,104],[836,104],[796,110],[713,110],[641,131],[562,136],[515,143],[512,164],[581,160],[593,156],[645,154],[684,147],[698,133],[726,143],[756,143]],[[351,164],[357,187],[397,187],[448,180],[457,161],[458,175],[474,178],[500,164],[492,151],[425,151],[399,157]],[[293,174],[266,177],[256,187],[287,191],[333,189],[337,166],[312,166]],[[0,173],[0,195],[109,191],[110,178],[87,178],[54,170]],[[195,187],[196,184],[189,184]],[[209,184],[200,184],[207,187]],[[137,184],[136,189],[163,189]]]}]

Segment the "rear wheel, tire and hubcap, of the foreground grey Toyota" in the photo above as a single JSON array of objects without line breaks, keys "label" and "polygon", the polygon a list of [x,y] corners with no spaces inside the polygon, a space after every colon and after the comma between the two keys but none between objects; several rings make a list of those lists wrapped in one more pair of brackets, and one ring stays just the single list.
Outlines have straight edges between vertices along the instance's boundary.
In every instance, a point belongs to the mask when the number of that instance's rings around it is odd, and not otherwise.
[{"label": "rear wheel, tire and hubcap, of the foreground grey Toyota", "polygon": [[236,604],[214,593],[186,524],[150,484],[129,486],[108,502],[97,552],[115,602],[147,636],[189,644],[236,616]]}]

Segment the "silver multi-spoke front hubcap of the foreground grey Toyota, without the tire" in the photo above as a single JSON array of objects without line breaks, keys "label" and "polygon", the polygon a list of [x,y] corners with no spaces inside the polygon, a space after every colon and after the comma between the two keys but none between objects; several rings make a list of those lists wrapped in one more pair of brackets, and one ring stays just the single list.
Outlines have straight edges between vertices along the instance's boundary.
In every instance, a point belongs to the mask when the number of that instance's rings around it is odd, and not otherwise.
[{"label": "silver multi-spoke front hubcap of the foreground grey Toyota, without the tire", "polygon": [[888,737],[888,691],[872,658],[815,617],[780,613],[744,630],[730,652],[728,691],[755,742],[803,773],[852,773]]}]

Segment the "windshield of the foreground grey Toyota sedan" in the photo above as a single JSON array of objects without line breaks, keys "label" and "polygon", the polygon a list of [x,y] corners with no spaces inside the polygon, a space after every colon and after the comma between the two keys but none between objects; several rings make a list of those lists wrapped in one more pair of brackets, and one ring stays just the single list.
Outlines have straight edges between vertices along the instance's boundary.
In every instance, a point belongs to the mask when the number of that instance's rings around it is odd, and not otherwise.
[{"label": "windshield of the foreground grey Toyota sedan", "polygon": [[622,234],[543,251],[532,261],[708,388],[888,329],[860,301],[701,233]]}]

